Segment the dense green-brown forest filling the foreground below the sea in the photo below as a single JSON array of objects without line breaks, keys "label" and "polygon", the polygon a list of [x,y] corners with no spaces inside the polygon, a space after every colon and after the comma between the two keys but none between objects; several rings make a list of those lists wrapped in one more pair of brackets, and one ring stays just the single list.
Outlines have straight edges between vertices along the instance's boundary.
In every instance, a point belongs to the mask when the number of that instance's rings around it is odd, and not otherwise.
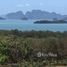
[{"label": "dense green-brown forest filling the foreground below the sea", "polygon": [[0,30],[0,65],[67,65],[67,32]]}]

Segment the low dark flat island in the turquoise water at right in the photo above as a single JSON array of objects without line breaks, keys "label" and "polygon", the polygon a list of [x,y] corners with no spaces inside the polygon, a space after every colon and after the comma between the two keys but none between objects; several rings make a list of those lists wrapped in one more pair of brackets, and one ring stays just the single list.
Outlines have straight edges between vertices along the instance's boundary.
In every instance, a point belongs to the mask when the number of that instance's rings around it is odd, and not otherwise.
[{"label": "low dark flat island in the turquoise water at right", "polygon": [[65,21],[65,20],[40,20],[40,21],[35,21],[34,22],[34,24],[48,24],[48,23],[57,23],[57,24],[59,24],[59,23],[67,23],[67,21]]}]

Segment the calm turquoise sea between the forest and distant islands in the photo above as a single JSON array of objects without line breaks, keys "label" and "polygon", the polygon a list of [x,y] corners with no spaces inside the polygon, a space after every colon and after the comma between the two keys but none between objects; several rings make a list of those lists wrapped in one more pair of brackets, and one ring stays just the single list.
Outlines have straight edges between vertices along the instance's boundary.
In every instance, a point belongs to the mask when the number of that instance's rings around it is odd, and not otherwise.
[{"label": "calm turquoise sea between the forest and distant islands", "polygon": [[35,20],[0,20],[0,30],[18,29],[22,31],[67,31],[67,24],[33,24]]}]

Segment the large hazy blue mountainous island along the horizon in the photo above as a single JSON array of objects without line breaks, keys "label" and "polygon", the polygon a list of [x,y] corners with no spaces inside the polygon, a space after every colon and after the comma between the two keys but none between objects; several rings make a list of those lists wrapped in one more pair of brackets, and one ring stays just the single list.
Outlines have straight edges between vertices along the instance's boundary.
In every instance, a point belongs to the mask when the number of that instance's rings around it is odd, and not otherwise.
[{"label": "large hazy blue mountainous island along the horizon", "polygon": [[36,19],[63,19],[67,20],[67,15],[61,15],[57,14],[55,12],[48,12],[48,11],[42,11],[42,10],[32,10],[27,11],[26,13],[23,13],[23,11],[17,11],[17,12],[11,12],[7,13],[5,15],[1,15],[0,17],[6,18],[6,19],[15,19],[15,20],[36,20]]}]

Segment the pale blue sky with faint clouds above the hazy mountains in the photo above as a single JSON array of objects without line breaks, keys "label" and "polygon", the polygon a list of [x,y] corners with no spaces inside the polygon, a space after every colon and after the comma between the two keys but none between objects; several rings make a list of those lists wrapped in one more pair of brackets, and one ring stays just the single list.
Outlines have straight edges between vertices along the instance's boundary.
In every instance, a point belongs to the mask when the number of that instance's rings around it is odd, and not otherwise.
[{"label": "pale blue sky with faint clouds above the hazy mountains", "polygon": [[67,15],[67,0],[0,0],[0,15],[16,11],[43,10]]}]

